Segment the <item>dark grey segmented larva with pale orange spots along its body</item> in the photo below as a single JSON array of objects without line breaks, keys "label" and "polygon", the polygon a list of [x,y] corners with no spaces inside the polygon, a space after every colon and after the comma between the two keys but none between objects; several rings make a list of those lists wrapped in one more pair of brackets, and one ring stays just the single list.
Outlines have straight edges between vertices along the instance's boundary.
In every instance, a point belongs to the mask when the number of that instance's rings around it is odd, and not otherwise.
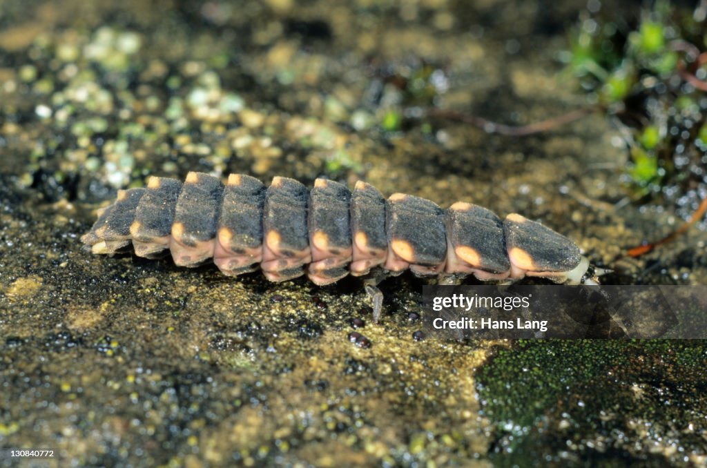
[{"label": "dark grey segmented larva with pale orange spots along its body", "polygon": [[541,276],[578,284],[590,266],[571,240],[515,213],[501,220],[461,201],[443,210],[412,195],[384,199],[365,182],[351,192],[317,179],[310,191],[286,177],[265,187],[231,174],[223,185],[201,172],[189,172],[184,184],[151,177],[146,188],[119,191],[81,240],[95,254],[132,242],[140,257],[169,249],[182,267],[213,258],[224,274],[262,269],[270,281],[307,274],[318,285],[406,269],[442,282],[473,274],[482,281]]}]

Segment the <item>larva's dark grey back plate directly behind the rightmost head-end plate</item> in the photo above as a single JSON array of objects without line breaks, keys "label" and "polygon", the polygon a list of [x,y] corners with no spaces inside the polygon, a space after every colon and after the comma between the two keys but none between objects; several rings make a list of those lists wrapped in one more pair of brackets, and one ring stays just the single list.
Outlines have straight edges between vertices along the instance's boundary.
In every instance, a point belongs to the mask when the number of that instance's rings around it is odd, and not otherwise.
[{"label": "larva's dark grey back plate directly behind the rightmost head-end plate", "polygon": [[503,222],[493,211],[477,205],[469,209],[448,209],[447,235],[453,249],[471,247],[479,253],[479,269],[503,273],[510,268],[506,242],[503,239]]}]

